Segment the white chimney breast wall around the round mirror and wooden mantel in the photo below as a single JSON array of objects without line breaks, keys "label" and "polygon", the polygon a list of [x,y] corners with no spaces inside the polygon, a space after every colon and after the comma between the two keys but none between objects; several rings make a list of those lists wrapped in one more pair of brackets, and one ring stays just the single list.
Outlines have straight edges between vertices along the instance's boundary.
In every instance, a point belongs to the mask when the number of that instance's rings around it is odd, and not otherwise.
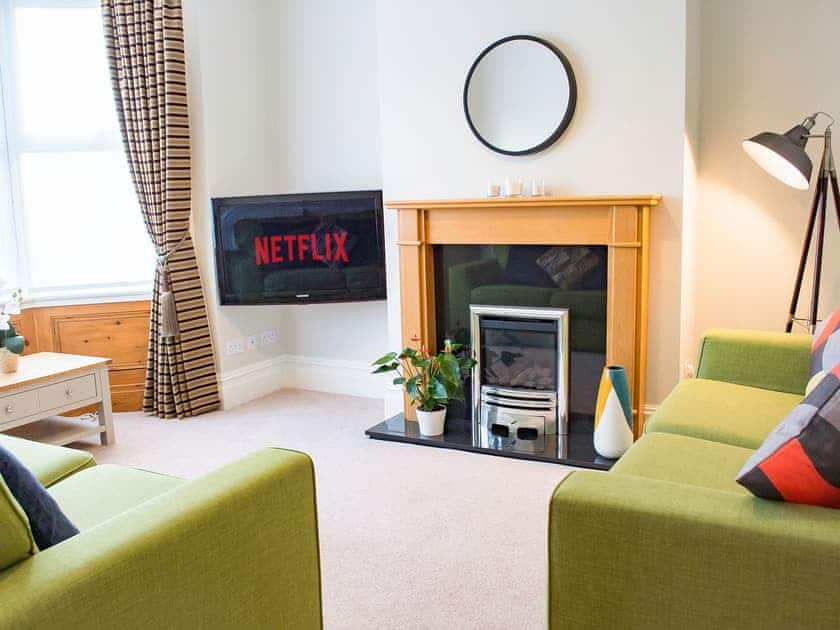
[{"label": "white chimney breast wall around the round mirror and wooden mantel", "polygon": [[[685,126],[684,2],[389,0],[377,4],[383,182],[387,198],[484,194],[487,179],[544,178],[556,194],[661,193],[653,211],[648,397],[679,375]],[[560,141],[509,158],[471,135],[464,77],[492,41],[533,33],[569,57],[578,110]],[[396,240],[393,215],[386,240]],[[396,246],[389,249],[389,341],[399,344]],[[400,407],[391,396],[388,409]]]}]

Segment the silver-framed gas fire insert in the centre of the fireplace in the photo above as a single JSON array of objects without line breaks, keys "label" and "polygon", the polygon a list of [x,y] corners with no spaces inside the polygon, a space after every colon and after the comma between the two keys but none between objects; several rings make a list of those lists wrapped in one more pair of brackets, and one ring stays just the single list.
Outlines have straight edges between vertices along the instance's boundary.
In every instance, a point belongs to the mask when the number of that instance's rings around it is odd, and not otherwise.
[{"label": "silver-framed gas fire insert in the centre of the fireplace", "polygon": [[569,430],[569,311],[471,305],[473,440],[544,450]]}]

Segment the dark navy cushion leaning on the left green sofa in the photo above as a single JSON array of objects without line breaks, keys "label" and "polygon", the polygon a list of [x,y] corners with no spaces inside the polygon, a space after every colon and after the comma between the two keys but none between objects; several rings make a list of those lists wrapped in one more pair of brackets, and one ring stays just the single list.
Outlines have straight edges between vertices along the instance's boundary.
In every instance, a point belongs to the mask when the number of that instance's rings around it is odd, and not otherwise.
[{"label": "dark navy cushion leaning on the left green sofa", "polygon": [[38,549],[44,550],[79,533],[35,475],[0,445],[0,475],[26,516]]}]

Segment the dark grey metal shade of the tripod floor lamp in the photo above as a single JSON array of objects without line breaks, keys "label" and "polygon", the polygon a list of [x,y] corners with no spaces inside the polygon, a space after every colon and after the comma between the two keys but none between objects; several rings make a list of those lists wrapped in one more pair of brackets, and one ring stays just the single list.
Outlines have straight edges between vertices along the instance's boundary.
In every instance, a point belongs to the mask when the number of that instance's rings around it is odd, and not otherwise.
[{"label": "dark grey metal shade of the tripod floor lamp", "polygon": [[761,168],[788,186],[806,190],[811,181],[811,158],[805,152],[808,129],[796,125],[784,135],[765,131],[744,140],[744,151]]}]

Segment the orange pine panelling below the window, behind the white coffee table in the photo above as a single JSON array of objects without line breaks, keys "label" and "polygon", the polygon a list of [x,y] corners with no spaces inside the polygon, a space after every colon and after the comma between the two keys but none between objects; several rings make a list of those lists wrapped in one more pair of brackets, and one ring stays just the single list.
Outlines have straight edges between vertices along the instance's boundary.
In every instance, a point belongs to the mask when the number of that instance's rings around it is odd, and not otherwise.
[{"label": "orange pine panelling below the window, behind the white coffee table", "polygon": [[24,354],[110,357],[114,411],[138,411],[143,402],[149,308],[148,300],[39,306],[25,309],[13,321],[26,338]]}]

